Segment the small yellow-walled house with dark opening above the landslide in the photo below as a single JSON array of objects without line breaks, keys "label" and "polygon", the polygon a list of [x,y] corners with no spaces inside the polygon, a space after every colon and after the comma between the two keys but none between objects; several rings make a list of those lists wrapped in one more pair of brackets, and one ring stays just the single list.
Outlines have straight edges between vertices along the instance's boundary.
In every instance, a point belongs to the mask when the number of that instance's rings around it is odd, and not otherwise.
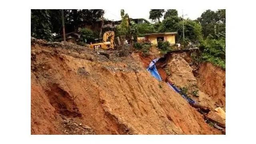
[{"label": "small yellow-walled house with dark opening above the landslide", "polygon": [[150,41],[152,45],[157,46],[159,39],[170,42],[170,45],[175,44],[175,35],[177,32],[164,32],[155,34],[145,34],[145,37],[138,38],[138,42]]}]

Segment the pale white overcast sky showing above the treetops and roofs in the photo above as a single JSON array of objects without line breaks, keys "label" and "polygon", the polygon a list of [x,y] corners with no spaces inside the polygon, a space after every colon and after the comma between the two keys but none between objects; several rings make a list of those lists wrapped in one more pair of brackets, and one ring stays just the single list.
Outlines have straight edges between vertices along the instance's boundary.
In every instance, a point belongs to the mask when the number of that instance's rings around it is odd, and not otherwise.
[{"label": "pale white overcast sky showing above the treetops and roofs", "polygon": [[[177,10],[178,15],[182,16],[182,9]],[[206,10],[207,9],[183,9],[184,18],[190,18],[192,20],[195,20],[196,18],[200,17],[201,14]],[[124,12],[128,13],[130,18],[145,18],[146,20],[151,22],[151,20],[148,18],[149,11],[150,9],[124,9]],[[121,20],[120,9],[105,9],[104,17],[108,18],[109,20]]]}]

